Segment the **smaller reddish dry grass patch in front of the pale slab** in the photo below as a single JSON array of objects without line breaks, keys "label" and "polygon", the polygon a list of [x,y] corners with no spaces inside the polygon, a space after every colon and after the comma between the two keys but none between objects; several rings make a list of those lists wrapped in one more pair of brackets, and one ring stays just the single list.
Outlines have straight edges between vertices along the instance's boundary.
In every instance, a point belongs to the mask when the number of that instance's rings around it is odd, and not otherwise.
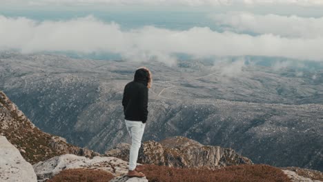
[{"label": "smaller reddish dry grass patch in front of the pale slab", "polygon": [[48,182],[108,182],[114,176],[103,170],[63,170]]}]

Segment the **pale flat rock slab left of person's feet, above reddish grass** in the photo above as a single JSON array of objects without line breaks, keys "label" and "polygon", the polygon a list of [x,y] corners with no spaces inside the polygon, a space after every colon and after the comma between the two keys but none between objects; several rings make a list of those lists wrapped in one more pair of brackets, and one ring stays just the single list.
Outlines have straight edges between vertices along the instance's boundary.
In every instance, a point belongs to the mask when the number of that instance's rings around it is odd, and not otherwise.
[{"label": "pale flat rock slab left of person's feet, above reddish grass", "polygon": [[[116,177],[124,176],[128,172],[128,163],[115,157],[95,156],[93,159],[89,159],[85,156],[73,154],[55,156],[47,161],[39,162],[33,167],[39,181],[51,179],[62,170],[68,169],[104,170]],[[117,179],[124,181],[127,177]]]}]

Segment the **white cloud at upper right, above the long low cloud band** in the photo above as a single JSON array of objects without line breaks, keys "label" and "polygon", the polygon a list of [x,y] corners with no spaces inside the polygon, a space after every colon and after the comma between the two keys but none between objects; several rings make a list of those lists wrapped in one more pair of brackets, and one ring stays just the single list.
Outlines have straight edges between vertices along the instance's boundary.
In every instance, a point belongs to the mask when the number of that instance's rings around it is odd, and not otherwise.
[{"label": "white cloud at upper right, above the long low cloud band", "polygon": [[295,15],[284,17],[276,14],[252,14],[250,12],[228,12],[210,15],[219,26],[235,32],[275,34],[282,37],[323,37],[323,17],[305,18]]}]

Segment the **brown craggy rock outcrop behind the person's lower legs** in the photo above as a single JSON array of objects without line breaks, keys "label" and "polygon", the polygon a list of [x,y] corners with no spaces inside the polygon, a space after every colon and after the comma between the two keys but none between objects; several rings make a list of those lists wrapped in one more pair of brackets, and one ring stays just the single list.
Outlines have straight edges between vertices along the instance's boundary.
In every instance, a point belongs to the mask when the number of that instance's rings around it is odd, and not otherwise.
[{"label": "brown craggy rock outcrop behind the person's lower legs", "polygon": [[[106,152],[128,161],[130,145],[121,143]],[[141,144],[139,163],[166,165],[179,168],[219,168],[228,165],[252,164],[252,161],[230,148],[202,145],[183,136],[175,136],[160,142],[146,141]]]}]

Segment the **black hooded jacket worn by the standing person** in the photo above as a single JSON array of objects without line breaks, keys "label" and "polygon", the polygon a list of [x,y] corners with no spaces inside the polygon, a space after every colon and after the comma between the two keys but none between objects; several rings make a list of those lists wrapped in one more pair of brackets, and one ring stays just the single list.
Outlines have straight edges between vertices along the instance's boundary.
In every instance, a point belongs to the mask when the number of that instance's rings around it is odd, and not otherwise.
[{"label": "black hooded jacket worn by the standing person", "polygon": [[148,72],[139,69],[135,78],[124,87],[124,119],[146,123],[148,117]]}]

